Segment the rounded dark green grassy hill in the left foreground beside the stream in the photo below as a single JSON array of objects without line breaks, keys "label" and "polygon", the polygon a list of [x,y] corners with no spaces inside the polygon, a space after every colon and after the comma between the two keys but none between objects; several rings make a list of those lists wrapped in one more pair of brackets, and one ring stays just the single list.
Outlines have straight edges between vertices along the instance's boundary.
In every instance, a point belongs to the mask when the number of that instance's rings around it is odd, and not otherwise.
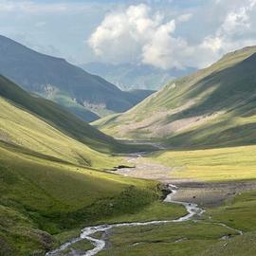
[{"label": "rounded dark green grassy hill in the left foreground beside the stream", "polygon": [[153,187],[0,142],[0,255],[45,255],[52,234],[142,209]]}]

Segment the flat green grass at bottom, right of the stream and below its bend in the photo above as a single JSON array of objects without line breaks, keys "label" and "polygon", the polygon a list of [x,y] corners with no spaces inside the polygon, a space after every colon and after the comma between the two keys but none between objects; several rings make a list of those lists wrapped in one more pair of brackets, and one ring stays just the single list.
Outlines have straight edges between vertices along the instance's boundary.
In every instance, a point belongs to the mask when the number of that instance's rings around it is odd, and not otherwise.
[{"label": "flat green grass at bottom, right of the stream and below its bend", "polygon": [[234,235],[235,232],[214,224],[193,222],[119,228],[114,229],[109,237],[111,247],[99,256],[142,256],[145,252],[152,256],[197,256],[229,234]]}]

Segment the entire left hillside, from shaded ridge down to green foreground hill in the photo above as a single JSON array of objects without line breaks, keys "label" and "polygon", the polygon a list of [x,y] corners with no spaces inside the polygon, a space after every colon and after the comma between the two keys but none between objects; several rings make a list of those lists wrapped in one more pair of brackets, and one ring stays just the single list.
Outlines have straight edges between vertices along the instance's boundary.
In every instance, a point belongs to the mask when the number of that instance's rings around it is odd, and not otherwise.
[{"label": "entire left hillside, from shaded ridge down to green foreground hill", "polygon": [[0,77],[0,109],[0,255],[46,255],[158,198],[155,182],[103,172],[121,163],[119,142],[56,103]]}]

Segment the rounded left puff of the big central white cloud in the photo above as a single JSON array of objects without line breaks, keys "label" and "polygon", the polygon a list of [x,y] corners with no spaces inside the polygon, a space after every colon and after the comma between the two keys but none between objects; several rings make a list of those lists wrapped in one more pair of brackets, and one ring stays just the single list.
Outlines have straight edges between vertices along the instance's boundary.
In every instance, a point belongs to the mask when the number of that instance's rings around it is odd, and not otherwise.
[{"label": "rounded left puff of the big central white cloud", "polygon": [[106,15],[91,35],[89,45],[109,62],[136,60],[161,20],[159,15],[151,17],[150,11],[148,6],[141,4]]}]

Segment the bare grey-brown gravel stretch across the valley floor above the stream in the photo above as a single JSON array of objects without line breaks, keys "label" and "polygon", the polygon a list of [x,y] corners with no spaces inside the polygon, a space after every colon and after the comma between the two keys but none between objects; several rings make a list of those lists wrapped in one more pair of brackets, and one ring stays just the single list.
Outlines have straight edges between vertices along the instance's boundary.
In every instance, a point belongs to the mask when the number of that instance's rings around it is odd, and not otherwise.
[{"label": "bare grey-brown gravel stretch across the valley floor above the stream", "polygon": [[122,168],[113,173],[175,184],[178,187],[178,192],[174,194],[175,201],[196,203],[201,207],[218,206],[240,192],[256,190],[255,181],[199,182],[175,178],[172,174],[177,169],[182,170],[182,167],[166,167],[146,157],[131,156],[127,161],[134,168]]}]

